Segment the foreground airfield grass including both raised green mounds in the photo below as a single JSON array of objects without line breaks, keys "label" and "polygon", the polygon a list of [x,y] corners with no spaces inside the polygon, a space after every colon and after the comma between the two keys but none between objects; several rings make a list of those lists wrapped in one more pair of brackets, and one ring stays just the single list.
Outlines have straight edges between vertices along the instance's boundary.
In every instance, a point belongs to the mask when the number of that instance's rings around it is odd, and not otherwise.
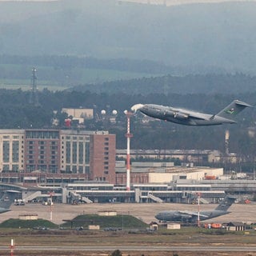
[{"label": "foreground airfield grass including both raised green mounds", "polygon": [[[18,251],[18,246],[256,246],[256,232],[251,230],[230,232],[226,230],[207,230],[202,227],[186,226],[180,230],[166,230],[160,226],[157,231],[146,229],[148,225],[138,218],[130,215],[118,215],[115,217],[104,217],[98,215],[79,215],[72,220],[73,228],[70,228],[70,221],[60,226],[47,220],[19,220],[9,219],[0,224],[0,246],[9,246],[10,239],[15,240],[19,256],[34,255],[31,251]],[[100,225],[101,230],[87,230],[90,224]],[[34,229],[34,227],[45,226],[49,230]],[[84,226],[83,230],[76,229],[77,226]],[[118,229],[106,229],[106,227],[118,227]],[[119,227],[122,226],[123,229]],[[38,256],[49,255],[111,255],[107,252],[88,251],[37,251]],[[8,255],[6,254],[2,255]],[[195,255],[223,255],[222,252],[126,252],[122,256],[195,256]],[[253,253],[226,253],[231,255],[256,255]]]}]

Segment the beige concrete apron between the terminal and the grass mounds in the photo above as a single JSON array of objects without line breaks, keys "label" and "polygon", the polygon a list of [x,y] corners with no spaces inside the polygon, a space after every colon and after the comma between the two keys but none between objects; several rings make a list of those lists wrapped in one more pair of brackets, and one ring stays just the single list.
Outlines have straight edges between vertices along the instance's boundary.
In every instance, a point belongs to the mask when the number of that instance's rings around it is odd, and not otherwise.
[{"label": "beige concrete apron between the terminal and the grass mounds", "polygon": [[[212,210],[217,204],[200,205],[201,210]],[[26,204],[25,206],[10,207],[11,211],[0,214],[0,222],[9,218],[18,218],[20,214],[38,214],[38,218],[50,220],[50,208],[52,210],[52,222],[61,224],[63,220],[73,219],[79,214],[98,214],[102,210],[116,210],[118,214],[130,214],[143,222],[157,221],[154,216],[161,210],[190,210],[198,211],[198,205],[177,203],[91,203],[82,205],[54,204],[54,206],[42,206],[41,204]],[[256,204],[234,204],[230,207],[230,214],[213,218],[210,222],[255,222]]]}]

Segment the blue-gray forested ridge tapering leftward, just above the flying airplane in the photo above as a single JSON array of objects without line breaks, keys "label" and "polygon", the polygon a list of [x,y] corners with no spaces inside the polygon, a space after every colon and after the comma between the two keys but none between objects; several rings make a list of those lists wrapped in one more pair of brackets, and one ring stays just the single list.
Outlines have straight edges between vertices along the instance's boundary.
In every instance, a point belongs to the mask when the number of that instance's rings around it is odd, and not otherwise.
[{"label": "blue-gray forested ridge tapering leftward, just above the flying airplane", "polygon": [[245,74],[206,74],[137,78],[75,86],[72,90],[124,94],[242,94],[256,92],[256,77]]}]

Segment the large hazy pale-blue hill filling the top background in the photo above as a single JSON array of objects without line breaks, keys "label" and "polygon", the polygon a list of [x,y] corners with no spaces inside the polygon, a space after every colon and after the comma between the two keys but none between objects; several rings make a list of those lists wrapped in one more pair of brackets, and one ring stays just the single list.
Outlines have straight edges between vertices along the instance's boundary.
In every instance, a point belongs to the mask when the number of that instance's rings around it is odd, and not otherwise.
[{"label": "large hazy pale-blue hill filling the top background", "polygon": [[256,73],[255,2],[154,6],[117,0],[0,2],[0,54],[149,59]]}]

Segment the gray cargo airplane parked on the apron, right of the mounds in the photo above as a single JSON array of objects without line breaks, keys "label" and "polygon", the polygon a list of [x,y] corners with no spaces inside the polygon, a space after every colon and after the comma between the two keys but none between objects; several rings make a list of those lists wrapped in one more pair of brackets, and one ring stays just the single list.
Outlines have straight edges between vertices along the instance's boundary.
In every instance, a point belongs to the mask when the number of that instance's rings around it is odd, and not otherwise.
[{"label": "gray cargo airplane parked on the apron, right of the mounds", "polygon": [[230,214],[227,211],[232,203],[237,198],[227,196],[224,198],[222,202],[217,206],[214,210],[202,210],[199,213],[196,211],[188,211],[188,210],[163,210],[155,215],[155,218],[160,222],[191,222],[195,223],[198,220],[198,214],[200,221],[216,218],[218,216],[222,216],[225,214]]}]

